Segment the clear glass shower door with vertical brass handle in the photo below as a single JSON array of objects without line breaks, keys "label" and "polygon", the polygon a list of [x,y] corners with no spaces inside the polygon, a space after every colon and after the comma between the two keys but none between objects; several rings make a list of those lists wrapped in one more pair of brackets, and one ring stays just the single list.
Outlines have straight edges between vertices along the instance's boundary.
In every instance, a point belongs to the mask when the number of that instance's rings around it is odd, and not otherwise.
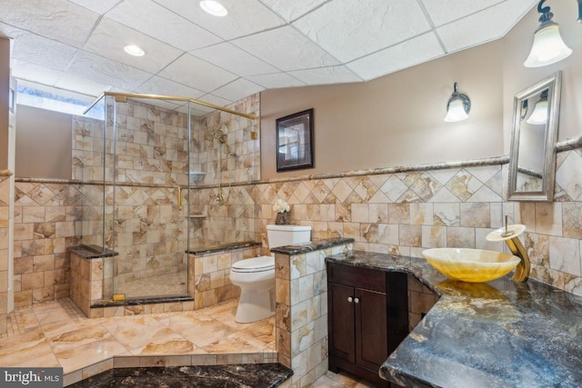
[{"label": "clear glass shower door with vertical brass handle", "polygon": [[110,214],[106,244],[116,253],[110,268],[113,294],[125,299],[186,295],[187,114],[161,100],[127,98],[111,105],[105,213]]}]

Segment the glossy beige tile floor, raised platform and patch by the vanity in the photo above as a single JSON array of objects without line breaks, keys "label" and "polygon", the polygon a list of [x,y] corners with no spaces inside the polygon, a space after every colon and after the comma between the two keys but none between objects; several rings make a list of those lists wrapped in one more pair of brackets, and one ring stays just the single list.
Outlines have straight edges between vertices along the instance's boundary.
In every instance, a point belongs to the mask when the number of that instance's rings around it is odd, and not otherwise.
[{"label": "glossy beige tile floor, raised platform and patch by the vanity", "polygon": [[[19,308],[0,337],[0,365],[61,366],[66,385],[114,366],[276,362],[275,319],[236,323],[236,303],[94,319],[68,298]],[[328,372],[312,386],[373,385]]]}]

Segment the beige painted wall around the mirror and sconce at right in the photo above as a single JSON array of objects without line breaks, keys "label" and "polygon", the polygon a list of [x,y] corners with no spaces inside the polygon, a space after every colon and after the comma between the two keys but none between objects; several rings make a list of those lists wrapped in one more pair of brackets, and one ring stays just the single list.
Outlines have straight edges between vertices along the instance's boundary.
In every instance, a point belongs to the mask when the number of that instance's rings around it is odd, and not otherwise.
[{"label": "beige painted wall around the mirror and sconce at right", "polygon": [[562,94],[557,132],[558,141],[577,137],[582,129],[582,25],[577,23],[577,2],[554,1],[550,5],[554,14],[553,22],[560,25],[564,42],[574,51],[565,60],[554,65],[527,68],[523,65],[534,40],[534,32],[539,26],[537,7],[534,7],[503,38],[503,113],[505,154],[509,153],[512,130],[513,97],[518,92],[534,85],[548,75],[562,70]]}]

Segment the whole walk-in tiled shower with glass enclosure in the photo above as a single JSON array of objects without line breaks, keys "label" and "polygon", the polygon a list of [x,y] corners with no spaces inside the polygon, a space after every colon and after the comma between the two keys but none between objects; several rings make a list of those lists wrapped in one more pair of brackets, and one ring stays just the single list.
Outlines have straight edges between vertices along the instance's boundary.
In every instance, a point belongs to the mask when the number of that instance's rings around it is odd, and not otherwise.
[{"label": "whole walk-in tiled shower with glass enclosure", "polygon": [[237,186],[259,178],[254,116],[159,95],[105,93],[97,106],[103,122],[73,152],[82,243],[112,253],[104,299],[186,295],[188,252],[255,239],[254,217],[239,219],[252,198]]}]

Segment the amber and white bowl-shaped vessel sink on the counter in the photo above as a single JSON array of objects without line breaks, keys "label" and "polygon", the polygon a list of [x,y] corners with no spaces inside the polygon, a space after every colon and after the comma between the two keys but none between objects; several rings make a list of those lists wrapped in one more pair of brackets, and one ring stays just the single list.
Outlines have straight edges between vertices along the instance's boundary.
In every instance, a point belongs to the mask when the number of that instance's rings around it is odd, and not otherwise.
[{"label": "amber and white bowl-shaped vessel sink on the counter", "polygon": [[422,254],[441,274],[471,283],[489,282],[509,274],[520,261],[513,254],[470,248],[434,248]]}]

